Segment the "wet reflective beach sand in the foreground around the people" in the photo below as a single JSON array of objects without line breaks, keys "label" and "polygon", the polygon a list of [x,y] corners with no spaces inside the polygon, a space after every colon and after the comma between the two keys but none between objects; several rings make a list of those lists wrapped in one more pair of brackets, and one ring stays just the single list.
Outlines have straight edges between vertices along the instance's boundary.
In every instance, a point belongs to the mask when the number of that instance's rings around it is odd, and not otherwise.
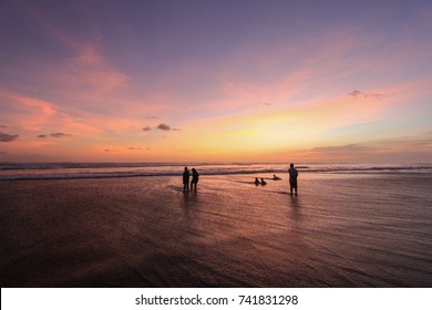
[{"label": "wet reflective beach sand in the foreground around the people", "polygon": [[282,177],[0,182],[1,287],[432,286],[430,174]]}]

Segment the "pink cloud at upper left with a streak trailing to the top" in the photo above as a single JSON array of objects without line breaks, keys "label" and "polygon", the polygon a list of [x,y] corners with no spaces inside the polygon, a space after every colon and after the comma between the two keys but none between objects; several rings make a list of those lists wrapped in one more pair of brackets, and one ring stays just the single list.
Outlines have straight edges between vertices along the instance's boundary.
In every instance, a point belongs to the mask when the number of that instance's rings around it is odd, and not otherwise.
[{"label": "pink cloud at upper left with a streak trailing to the top", "polygon": [[19,4],[49,35],[74,54],[63,62],[45,64],[43,72],[38,73],[51,85],[55,85],[50,92],[68,101],[75,100],[76,105],[91,103],[103,106],[106,104],[106,95],[127,86],[130,78],[103,56],[103,50],[96,40],[86,42],[73,38],[54,25],[37,6]]}]

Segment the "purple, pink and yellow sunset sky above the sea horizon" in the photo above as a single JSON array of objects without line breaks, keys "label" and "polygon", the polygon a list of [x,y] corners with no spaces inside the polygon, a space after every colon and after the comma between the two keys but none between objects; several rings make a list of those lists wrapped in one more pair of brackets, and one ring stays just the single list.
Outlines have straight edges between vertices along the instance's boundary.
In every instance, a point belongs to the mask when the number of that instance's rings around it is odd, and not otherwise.
[{"label": "purple, pink and yellow sunset sky above the sea horizon", "polygon": [[432,1],[0,0],[0,162],[432,163]]}]

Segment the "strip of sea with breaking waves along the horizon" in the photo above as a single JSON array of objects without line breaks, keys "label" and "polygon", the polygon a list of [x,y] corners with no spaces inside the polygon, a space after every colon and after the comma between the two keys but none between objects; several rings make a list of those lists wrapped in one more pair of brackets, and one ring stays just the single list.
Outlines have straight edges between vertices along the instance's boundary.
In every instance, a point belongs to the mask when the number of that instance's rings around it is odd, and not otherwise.
[{"label": "strip of sea with breaking waves along the horizon", "polygon": [[[137,176],[178,176],[184,163],[0,163],[0,179],[69,179]],[[287,164],[189,164],[202,175],[284,174]],[[432,173],[432,164],[308,164],[301,173]]]}]

